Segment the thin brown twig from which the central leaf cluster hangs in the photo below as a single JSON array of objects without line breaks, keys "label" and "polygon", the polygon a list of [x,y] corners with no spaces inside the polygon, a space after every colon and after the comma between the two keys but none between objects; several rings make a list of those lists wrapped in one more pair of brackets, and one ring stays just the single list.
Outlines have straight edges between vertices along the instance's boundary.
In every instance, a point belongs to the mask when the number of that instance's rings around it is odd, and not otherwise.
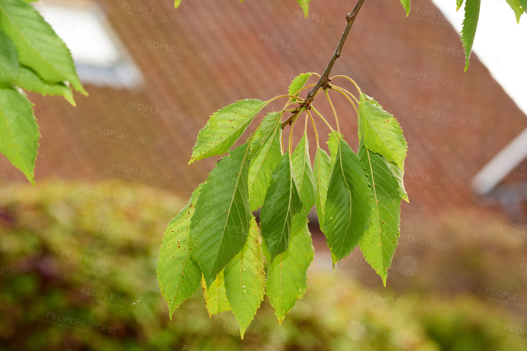
[{"label": "thin brown twig from which the central leaf cluster hangs", "polygon": [[[353,11],[346,15],[346,22],[347,22],[346,28],[344,28],[344,33],[342,33],[342,36],[340,37],[340,41],[338,42],[337,48],[335,49],[333,56],[331,56],[331,59],[324,73],[318,79],[317,84],[307,94],[304,104],[307,104],[307,105],[311,104],[313,100],[315,99],[315,94],[319,91],[319,89],[324,87],[329,82],[329,73],[331,73],[331,69],[333,68],[333,65],[335,65],[337,58],[339,58],[342,55],[342,49],[344,47],[344,42],[346,41],[346,38],[348,37],[349,31],[352,29],[353,23],[355,22],[355,18],[357,17],[357,14],[359,13],[360,7],[362,7],[362,5],[364,4],[364,1],[365,0],[358,0],[357,4],[353,8]],[[295,118],[298,116],[300,112],[300,108],[301,106],[298,106],[295,109],[295,111],[292,112],[292,115],[289,118],[287,118],[284,122],[282,122],[282,129],[284,129],[286,125],[291,124],[293,121],[295,121]]]}]

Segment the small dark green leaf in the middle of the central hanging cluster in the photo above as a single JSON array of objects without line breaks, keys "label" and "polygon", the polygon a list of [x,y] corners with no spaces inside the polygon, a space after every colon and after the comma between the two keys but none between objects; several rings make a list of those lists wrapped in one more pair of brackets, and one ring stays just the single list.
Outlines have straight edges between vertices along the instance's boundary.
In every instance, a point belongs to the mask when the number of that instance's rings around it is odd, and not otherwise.
[{"label": "small dark green leaf in the middle of the central hanging cluster", "polygon": [[302,200],[292,171],[291,158],[286,152],[271,174],[271,185],[267,189],[260,212],[261,236],[270,255],[271,262],[289,245],[292,217],[302,208]]}]

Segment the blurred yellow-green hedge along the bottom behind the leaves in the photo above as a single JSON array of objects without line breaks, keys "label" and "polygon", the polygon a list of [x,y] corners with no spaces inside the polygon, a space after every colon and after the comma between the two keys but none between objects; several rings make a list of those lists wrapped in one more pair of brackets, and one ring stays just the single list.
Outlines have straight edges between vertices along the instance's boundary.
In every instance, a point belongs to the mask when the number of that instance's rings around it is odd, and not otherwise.
[{"label": "blurred yellow-green hedge along the bottom behind the leaves", "polygon": [[282,325],[265,300],[241,340],[230,313],[208,318],[200,291],[170,322],[155,267],[162,233],[187,199],[120,182],[0,194],[0,350],[527,350],[504,330],[521,325],[515,317],[481,298],[380,290],[408,303],[400,312],[317,258]]}]

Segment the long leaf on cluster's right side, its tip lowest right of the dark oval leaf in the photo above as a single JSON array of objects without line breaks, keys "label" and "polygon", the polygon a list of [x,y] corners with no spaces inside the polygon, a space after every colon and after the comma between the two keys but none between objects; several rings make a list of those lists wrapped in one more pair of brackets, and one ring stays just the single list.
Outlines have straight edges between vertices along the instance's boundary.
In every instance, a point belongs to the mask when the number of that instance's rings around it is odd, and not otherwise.
[{"label": "long leaf on cluster's right side, its tip lowest right of the dark oval leaf", "polygon": [[364,257],[383,279],[386,286],[388,268],[401,234],[401,192],[389,161],[368,151],[361,143],[358,157],[372,184],[372,220],[363,239],[359,241]]}]

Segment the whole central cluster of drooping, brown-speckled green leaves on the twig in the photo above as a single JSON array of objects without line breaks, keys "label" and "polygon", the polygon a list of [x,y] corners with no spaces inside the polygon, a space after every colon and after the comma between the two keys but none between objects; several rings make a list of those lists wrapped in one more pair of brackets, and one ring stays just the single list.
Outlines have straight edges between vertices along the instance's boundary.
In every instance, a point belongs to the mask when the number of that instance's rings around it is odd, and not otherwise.
[{"label": "whole central cluster of drooping, brown-speckled green leaves on the twig", "polygon": [[[264,294],[281,323],[307,289],[307,269],[314,255],[307,215],[313,206],[333,264],[360,246],[386,284],[399,237],[401,200],[408,200],[402,129],[394,116],[358,87],[357,99],[329,85],[324,93],[330,104],[328,91],[334,91],[355,106],[359,147],[354,152],[338,128],[331,128],[328,155],[318,142],[309,112],[313,106],[298,97],[312,86],[304,87],[310,75],[294,79],[289,94],[279,96],[289,97],[284,109],[264,116],[240,146],[234,147],[249,124],[279,97],[233,103],[214,113],[199,132],[190,162],[228,155],[219,159],[164,234],[157,273],[170,318],[201,285],[209,315],[232,311],[242,338]],[[306,124],[293,150],[295,119],[284,152],[282,117],[291,105],[298,106],[293,109],[298,116],[307,113]],[[307,118],[317,141],[313,163]],[[260,207],[259,229],[252,212]]]}]

